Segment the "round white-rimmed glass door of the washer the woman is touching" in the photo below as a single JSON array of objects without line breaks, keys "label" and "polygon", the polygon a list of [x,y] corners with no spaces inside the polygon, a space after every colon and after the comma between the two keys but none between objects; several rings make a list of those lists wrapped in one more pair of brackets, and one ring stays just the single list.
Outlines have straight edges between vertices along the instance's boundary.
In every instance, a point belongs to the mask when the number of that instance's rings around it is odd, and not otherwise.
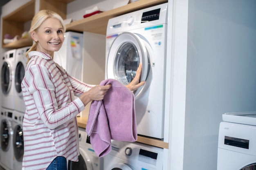
[{"label": "round white-rimmed glass door of the washer the woman is touching", "polygon": [[[149,59],[144,41],[130,32],[120,33],[113,41],[107,60],[107,78],[116,79],[124,85],[135,77],[139,63],[142,64],[140,81],[146,81],[149,71]],[[137,97],[143,87],[134,92]]]}]

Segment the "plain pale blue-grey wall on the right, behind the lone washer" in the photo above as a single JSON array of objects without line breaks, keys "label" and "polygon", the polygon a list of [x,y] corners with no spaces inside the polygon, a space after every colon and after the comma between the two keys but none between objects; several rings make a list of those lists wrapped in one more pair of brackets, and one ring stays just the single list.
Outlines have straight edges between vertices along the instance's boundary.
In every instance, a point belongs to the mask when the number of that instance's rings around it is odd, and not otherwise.
[{"label": "plain pale blue-grey wall on the right, behind the lone washer", "polygon": [[256,110],[255,9],[189,0],[183,170],[216,170],[222,114]]}]

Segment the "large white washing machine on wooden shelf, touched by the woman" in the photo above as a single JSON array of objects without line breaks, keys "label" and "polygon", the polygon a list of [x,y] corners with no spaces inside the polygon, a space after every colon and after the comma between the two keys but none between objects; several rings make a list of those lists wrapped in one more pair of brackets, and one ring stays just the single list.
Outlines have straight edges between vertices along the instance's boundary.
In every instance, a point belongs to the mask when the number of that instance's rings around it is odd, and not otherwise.
[{"label": "large white washing machine on wooden shelf, touched by the woman", "polygon": [[142,63],[141,81],[134,92],[137,132],[164,137],[167,4],[159,4],[108,21],[106,79],[127,85]]}]

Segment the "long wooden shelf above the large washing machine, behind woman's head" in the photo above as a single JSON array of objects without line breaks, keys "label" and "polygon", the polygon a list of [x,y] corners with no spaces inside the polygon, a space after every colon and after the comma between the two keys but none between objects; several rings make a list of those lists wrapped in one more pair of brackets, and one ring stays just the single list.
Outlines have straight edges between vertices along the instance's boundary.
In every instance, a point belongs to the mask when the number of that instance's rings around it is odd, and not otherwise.
[{"label": "long wooden shelf above the large washing machine, behind woman's head", "polygon": [[67,24],[67,31],[78,31],[78,32],[91,32],[106,35],[108,20],[116,16],[137,11],[146,7],[151,7],[157,4],[168,2],[168,0],[139,0],[125,6],[98,13],[82,20],[71,22]]}]

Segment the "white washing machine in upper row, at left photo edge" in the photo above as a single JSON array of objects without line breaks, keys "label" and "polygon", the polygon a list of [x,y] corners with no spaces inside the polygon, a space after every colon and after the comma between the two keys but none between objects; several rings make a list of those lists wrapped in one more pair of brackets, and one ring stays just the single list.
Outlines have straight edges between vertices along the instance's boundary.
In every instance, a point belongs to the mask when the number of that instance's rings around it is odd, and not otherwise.
[{"label": "white washing machine in upper row, at left photo edge", "polygon": [[7,51],[3,56],[1,69],[2,107],[14,110],[14,71],[16,49]]}]

